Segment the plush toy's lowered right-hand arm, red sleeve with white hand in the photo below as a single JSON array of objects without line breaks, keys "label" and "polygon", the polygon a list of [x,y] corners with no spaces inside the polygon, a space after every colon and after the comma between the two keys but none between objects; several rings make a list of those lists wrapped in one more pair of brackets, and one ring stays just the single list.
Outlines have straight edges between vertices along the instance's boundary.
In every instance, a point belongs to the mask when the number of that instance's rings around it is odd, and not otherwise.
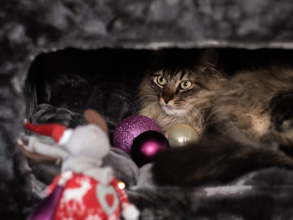
[{"label": "plush toy's lowered right-hand arm, red sleeve with white hand", "polygon": [[127,194],[124,189],[120,189],[118,187],[118,181],[114,177],[111,185],[115,187],[116,192],[118,194],[118,198],[120,200],[120,209],[121,215],[125,220],[138,220],[139,219],[139,211],[138,209],[129,202]]}]

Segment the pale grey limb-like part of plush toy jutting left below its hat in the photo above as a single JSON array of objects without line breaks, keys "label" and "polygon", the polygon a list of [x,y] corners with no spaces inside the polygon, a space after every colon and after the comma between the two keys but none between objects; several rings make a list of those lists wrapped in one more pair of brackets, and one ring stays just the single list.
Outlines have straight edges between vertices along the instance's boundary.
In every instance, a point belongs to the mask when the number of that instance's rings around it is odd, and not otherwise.
[{"label": "pale grey limb-like part of plush toy jutting left below its hat", "polygon": [[60,148],[58,145],[48,145],[41,143],[35,136],[30,136],[28,139],[28,145],[25,145],[24,148],[30,152],[39,153],[41,155],[51,156],[54,158],[67,158],[72,155]]}]

